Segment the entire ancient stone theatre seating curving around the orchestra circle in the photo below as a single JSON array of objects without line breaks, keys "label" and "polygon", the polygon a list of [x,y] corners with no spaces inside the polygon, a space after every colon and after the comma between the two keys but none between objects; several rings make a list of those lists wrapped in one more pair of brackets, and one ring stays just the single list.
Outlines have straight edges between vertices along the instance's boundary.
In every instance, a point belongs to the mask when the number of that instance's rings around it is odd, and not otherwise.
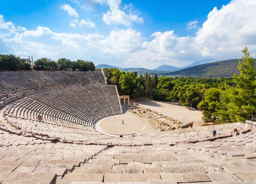
[{"label": "entire ancient stone theatre seating curving around the orchestra circle", "polygon": [[95,122],[122,109],[104,81],[100,70],[0,72],[0,183],[256,183],[255,122],[105,136]]}]

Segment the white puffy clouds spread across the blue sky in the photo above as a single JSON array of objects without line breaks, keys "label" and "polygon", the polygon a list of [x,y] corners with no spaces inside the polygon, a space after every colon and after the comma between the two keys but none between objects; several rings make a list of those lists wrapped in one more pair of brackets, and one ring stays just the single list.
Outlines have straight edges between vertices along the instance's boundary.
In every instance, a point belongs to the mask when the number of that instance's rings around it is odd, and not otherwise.
[{"label": "white puffy clouds spread across the blue sky", "polygon": [[[121,2],[94,1],[109,3],[117,10]],[[214,7],[203,25],[197,25],[198,30],[194,36],[179,36],[175,30],[166,30],[156,31],[148,38],[139,30],[131,28],[114,28],[104,35],[59,33],[41,26],[27,30],[6,21],[0,15],[0,49],[2,53],[19,56],[33,54],[34,58],[84,58],[96,64],[118,63],[122,67],[143,68],[156,68],[160,64],[184,66],[203,58],[238,58],[245,46],[255,57],[255,10],[256,1],[232,0],[220,9]],[[74,18],[73,26],[81,26],[81,23],[87,27],[95,26],[89,23],[89,19],[82,20]],[[113,22],[118,21],[111,20],[110,24]]]}]

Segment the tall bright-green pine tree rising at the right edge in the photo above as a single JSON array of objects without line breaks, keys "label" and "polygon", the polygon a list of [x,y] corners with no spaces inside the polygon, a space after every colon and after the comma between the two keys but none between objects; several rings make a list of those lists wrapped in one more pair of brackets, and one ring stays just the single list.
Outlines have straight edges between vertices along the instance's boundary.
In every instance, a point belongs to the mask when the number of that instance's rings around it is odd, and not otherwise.
[{"label": "tall bright-green pine tree rising at the right edge", "polygon": [[256,70],[248,48],[242,50],[244,57],[239,60],[240,74],[234,74],[236,86],[230,90],[227,113],[232,122],[245,121],[256,113]]}]

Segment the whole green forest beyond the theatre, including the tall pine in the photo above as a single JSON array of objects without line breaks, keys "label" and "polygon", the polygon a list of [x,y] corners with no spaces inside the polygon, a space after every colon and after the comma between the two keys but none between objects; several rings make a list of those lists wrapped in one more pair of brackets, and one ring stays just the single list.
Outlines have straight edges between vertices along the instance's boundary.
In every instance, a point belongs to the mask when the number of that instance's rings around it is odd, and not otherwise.
[{"label": "whole green forest beyond the theatre, including the tall pine", "polygon": [[116,84],[121,95],[176,101],[202,110],[205,121],[243,122],[256,113],[256,65],[247,47],[242,53],[240,74],[233,78],[158,77],[117,68],[103,71],[108,84]]}]

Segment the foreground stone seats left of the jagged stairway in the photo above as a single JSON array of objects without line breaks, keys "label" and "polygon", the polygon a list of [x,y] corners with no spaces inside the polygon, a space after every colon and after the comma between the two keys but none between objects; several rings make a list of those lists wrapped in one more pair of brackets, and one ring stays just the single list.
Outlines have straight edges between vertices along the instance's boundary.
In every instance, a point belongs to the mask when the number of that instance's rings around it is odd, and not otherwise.
[{"label": "foreground stone seats left of the jagged stairway", "polygon": [[0,181],[3,183],[55,184],[107,149],[104,145],[50,143],[0,130]]}]

